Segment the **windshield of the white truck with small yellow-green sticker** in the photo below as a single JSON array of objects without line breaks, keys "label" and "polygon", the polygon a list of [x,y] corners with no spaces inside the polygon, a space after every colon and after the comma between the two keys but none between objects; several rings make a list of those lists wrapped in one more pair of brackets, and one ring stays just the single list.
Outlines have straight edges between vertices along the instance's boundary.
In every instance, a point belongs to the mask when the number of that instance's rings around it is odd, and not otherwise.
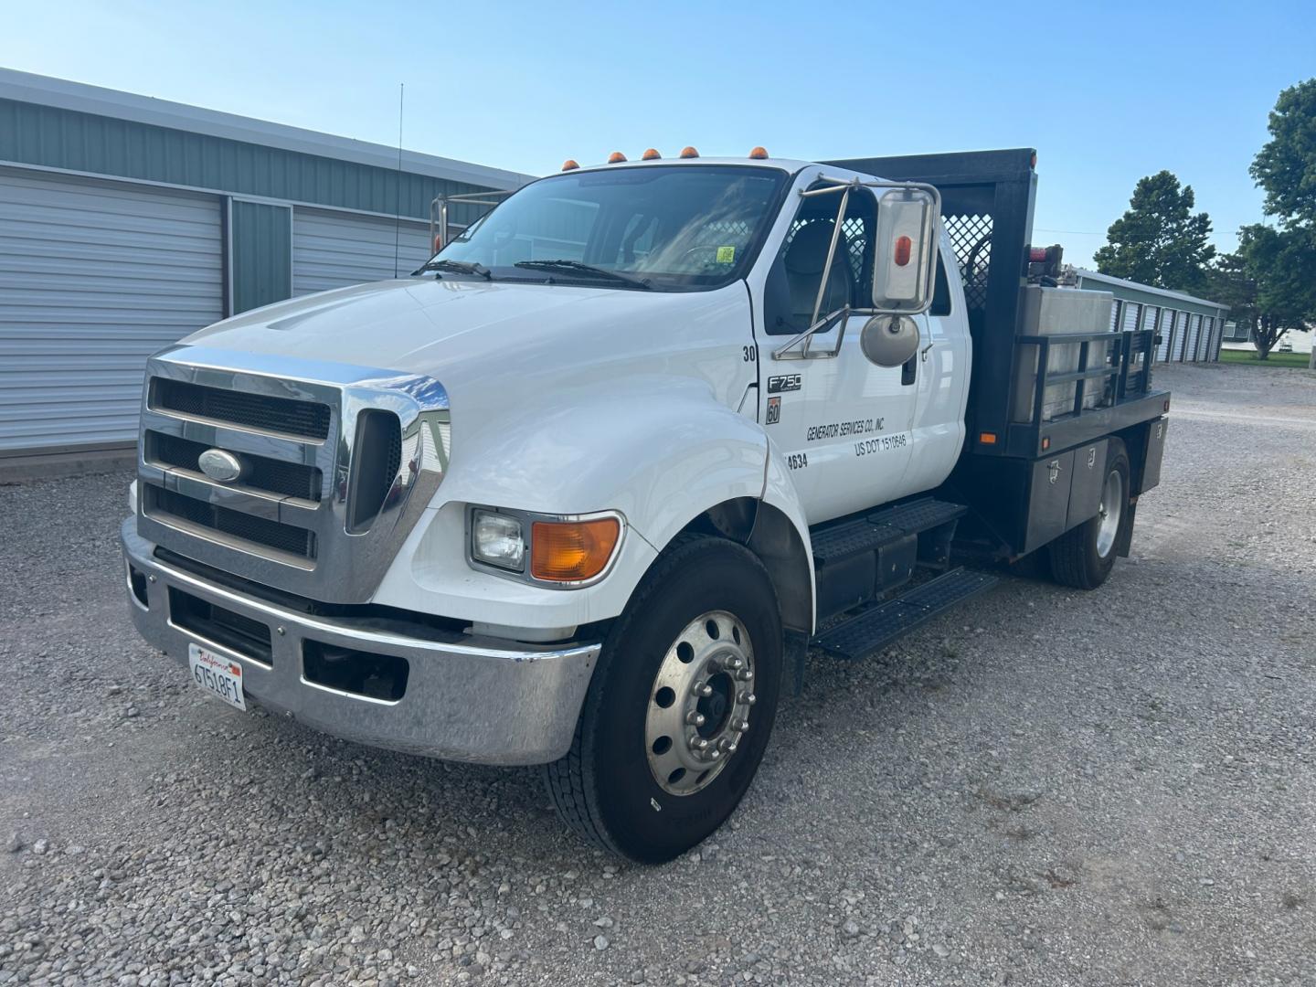
[{"label": "windshield of the white truck with small yellow-green sticker", "polygon": [[734,164],[555,175],[519,191],[437,259],[499,279],[715,288],[753,263],[784,180],[776,168]]}]

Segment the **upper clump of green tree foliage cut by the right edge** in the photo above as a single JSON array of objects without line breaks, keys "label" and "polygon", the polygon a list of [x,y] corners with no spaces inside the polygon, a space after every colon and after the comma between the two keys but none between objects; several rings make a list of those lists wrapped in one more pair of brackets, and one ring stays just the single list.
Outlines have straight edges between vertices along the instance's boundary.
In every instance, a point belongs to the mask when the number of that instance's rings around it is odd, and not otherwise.
[{"label": "upper clump of green tree foliage cut by the right edge", "polygon": [[1316,228],[1316,79],[1279,93],[1269,129],[1250,168],[1266,190],[1266,212],[1286,226]]}]

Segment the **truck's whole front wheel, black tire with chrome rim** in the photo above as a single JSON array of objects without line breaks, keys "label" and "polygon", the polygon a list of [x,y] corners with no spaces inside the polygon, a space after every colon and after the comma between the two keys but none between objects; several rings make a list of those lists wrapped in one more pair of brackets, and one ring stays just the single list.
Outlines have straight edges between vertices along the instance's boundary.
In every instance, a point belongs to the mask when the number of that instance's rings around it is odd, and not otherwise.
[{"label": "truck's whole front wheel, black tire with chrome rim", "polygon": [[707,537],[666,551],[604,641],[571,750],[544,769],[567,825],[641,863],[716,830],[767,747],[782,646],[753,553]]}]

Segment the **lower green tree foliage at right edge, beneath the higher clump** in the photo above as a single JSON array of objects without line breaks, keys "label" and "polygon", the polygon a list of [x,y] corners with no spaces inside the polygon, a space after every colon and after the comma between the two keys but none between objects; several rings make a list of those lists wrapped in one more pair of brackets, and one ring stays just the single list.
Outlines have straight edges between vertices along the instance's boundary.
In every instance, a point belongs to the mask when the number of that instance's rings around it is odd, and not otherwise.
[{"label": "lower green tree foliage at right edge, beneath the higher clump", "polygon": [[1238,230],[1238,250],[1211,268],[1211,297],[1246,325],[1259,359],[1316,316],[1316,233],[1261,224]]}]

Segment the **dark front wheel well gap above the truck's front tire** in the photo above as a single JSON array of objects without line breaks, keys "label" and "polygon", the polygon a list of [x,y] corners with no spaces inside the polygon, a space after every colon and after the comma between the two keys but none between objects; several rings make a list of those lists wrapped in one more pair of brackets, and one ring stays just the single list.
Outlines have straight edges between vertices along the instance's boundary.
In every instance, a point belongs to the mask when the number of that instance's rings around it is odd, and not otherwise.
[{"label": "dark front wheel well gap above the truck's front tire", "polygon": [[782,511],[754,497],[736,497],[708,508],[683,530],[730,538],[758,555],[776,590],[782,626],[805,637],[813,633],[809,555]]}]

